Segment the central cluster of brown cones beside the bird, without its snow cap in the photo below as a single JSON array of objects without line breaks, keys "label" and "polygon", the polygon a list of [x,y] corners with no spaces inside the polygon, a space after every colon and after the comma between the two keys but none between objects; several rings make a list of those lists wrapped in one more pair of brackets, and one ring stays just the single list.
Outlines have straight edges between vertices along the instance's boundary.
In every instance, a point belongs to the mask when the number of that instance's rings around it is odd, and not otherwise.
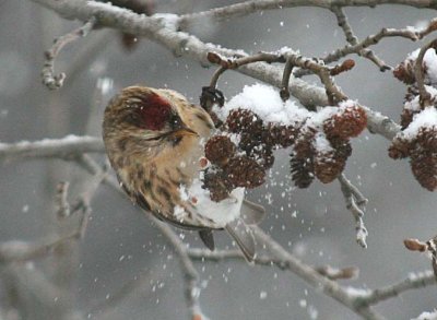
[{"label": "central cluster of brown cones beside the bird, without its snow cap", "polygon": [[[265,180],[274,163],[273,151],[292,146],[291,171],[298,188],[307,188],[317,177],[329,183],[343,171],[352,147],[350,138],[358,135],[367,123],[363,108],[350,104],[327,118],[320,128],[265,123],[253,111],[234,109],[221,123],[222,134],[205,144],[211,166],[205,170],[203,187],[213,201],[221,201],[237,187],[256,188]],[[314,114],[316,115],[316,114]],[[232,138],[233,139],[232,139]],[[318,149],[324,140],[326,147]]]}]

